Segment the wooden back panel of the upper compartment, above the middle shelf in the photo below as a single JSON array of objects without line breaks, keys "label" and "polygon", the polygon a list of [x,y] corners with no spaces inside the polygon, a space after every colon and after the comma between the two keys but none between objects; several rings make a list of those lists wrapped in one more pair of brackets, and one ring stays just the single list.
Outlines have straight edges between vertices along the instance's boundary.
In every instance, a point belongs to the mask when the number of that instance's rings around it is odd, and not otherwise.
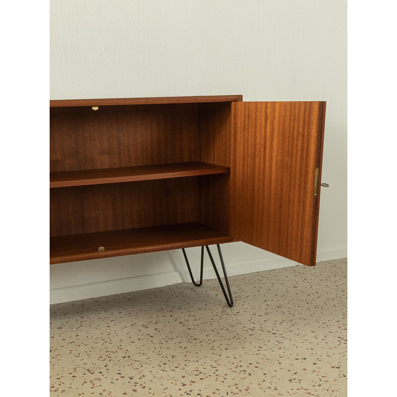
[{"label": "wooden back panel of the upper compartment, above the middle shelf", "polygon": [[50,171],[200,161],[198,105],[50,108]]}]

